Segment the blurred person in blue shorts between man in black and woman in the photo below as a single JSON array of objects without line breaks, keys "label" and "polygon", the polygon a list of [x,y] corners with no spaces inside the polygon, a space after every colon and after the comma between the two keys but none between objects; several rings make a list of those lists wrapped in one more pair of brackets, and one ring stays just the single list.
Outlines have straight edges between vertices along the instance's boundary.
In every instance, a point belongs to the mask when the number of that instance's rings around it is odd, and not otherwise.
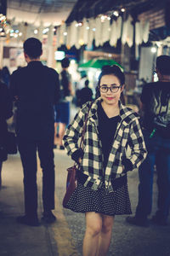
[{"label": "blurred person in blue shorts between man in black and woman", "polygon": [[[59,103],[55,105],[56,118],[54,125],[54,147],[55,144],[59,143],[59,149],[64,149],[62,144],[62,139],[65,134],[65,127],[70,122],[70,103],[73,96],[71,75],[68,73],[68,67],[70,66],[70,61],[65,57],[61,61],[62,71],[59,74]],[[56,135],[58,132],[58,139]]]}]

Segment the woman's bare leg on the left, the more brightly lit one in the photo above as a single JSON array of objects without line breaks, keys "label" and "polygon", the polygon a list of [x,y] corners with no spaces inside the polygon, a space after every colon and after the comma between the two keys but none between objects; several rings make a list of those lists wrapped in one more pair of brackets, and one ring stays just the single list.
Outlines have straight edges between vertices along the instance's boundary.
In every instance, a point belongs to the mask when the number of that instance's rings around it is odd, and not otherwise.
[{"label": "woman's bare leg on the left, the more brightly lit one", "polygon": [[99,246],[102,217],[96,212],[86,212],[86,232],[83,240],[83,256],[95,256]]}]

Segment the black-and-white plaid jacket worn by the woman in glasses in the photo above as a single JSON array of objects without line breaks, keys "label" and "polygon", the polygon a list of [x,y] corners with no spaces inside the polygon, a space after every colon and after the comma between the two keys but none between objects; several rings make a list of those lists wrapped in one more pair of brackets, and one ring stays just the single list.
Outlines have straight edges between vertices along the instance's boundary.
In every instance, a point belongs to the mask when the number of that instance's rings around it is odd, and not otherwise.
[{"label": "black-and-white plaid jacket worn by the woman in glasses", "polygon": [[[81,162],[81,170],[87,175],[87,181],[84,183],[84,186],[91,182],[93,183],[92,189],[96,190],[105,180],[105,188],[111,192],[113,191],[111,173],[116,173],[116,177],[125,175],[123,173],[122,160],[128,159],[132,163],[133,169],[138,168],[146,157],[147,151],[139,125],[139,114],[133,112],[130,108],[124,107],[119,102],[121,121],[117,124],[111,153],[104,172],[102,145],[99,140],[98,130],[97,108],[99,101],[101,101],[101,98],[93,103],[89,113],[90,102],[82,106],[71,125],[65,131],[63,142],[68,155],[73,154],[79,149],[79,138],[82,135],[86,113],[88,113]],[[106,129],[109,129],[109,127],[106,127]],[[127,156],[127,146],[131,148],[129,156]]]}]

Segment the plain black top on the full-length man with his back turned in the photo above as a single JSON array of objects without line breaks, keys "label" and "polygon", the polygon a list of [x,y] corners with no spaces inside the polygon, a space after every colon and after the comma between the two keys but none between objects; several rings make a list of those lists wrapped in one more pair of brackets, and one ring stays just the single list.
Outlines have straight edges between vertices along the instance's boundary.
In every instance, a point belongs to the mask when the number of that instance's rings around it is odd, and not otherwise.
[{"label": "plain black top on the full-length man with his back turned", "polygon": [[19,137],[54,137],[54,104],[59,100],[59,74],[31,61],[11,75],[10,90],[17,97],[16,132]]}]

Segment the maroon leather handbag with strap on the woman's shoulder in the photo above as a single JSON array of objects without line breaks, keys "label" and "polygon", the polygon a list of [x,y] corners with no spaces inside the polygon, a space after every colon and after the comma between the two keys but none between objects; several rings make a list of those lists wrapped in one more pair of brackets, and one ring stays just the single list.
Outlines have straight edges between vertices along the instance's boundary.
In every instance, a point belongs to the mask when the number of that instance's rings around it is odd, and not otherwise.
[{"label": "maroon leather handbag with strap on the woman's shoulder", "polygon": [[[88,108],[88,113],[90,111],[90,108],[92,107],[93,102],[91,103],[90,107]],[[82,137],[80,142],[80,148],[83,148],[83,142],[84,142],[84,136],[86,132],[87,122],[88,122],[88,113],[86,115],[86,119],[84,121],[84,125],[82,128]],[[66,192],[65,196],[63,198],[63,207],[66,207],[72,193],[77,188],[77,172],[78,172],[79,166],[77,163],[74,163],[74,166],[71,166],[67,169],[67,178],[66,178]]]}]

